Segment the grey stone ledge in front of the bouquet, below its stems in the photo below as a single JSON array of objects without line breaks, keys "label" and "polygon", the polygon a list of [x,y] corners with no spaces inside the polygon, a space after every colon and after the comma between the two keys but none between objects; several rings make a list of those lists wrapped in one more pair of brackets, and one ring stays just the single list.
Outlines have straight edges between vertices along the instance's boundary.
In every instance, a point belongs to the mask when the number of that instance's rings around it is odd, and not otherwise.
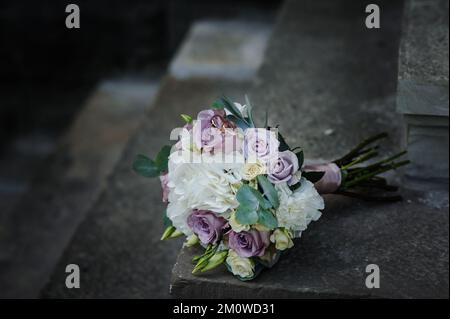
[{"label": "grey stone ledge in front of the bouquet, below its stems", "polygon": [[[404,194],[400,204],[367,204],[328,196],[322,218],[270,270],[251,282],[225,267],[191,274],[198,251],[183,249],[171,291],[179,298],[448,298],[448,206]],[[380,268],[380,288],[365,270]]]}]

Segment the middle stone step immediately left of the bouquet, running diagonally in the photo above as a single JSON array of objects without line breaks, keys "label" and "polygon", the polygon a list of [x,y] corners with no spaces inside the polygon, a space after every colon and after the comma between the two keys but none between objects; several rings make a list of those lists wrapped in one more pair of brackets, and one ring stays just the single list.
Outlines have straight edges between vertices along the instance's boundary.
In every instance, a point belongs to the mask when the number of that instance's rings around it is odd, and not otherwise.
[{"label": "middle stone step immediately left of the bouquet, running diagonally", "polygon": [[[46,298],[162,298],[168,297],[171,267],[180,249],[181,239],[161,242],[163,232],[161,202],[158,179],[145,179],[131,170],[134,157],[139,154],[155,156],[161,146],[168,143],[173,128],[183,125],[179,114],[195,115],[208,107],[218,96],[227,94],[243,98],[249,87],[246,78],[230,80],[223,76],[214,78],[209,74],[191,72],[188,76],[176,78],[178,69],[185,69],[195,52],[186,50],[192,43],[204,48],[202,55],[213,56],[214,46],[207,46],[205,40],[222,37],[222,41],[233,40],[226,30],[220,30],[212,23],[207,39],[196,36],[198,27],[193,26],[185,40],[176,64],[172,64],[171,75],[163,81],[152,109],[146,114],[138,131],[128,143],[114,173],[108,181],[102,196],[89,211],[78,228],[70,245],[56,268],[50,284],[43,292]],[[221,22],[222,23],[222,22]],[[201,22],[205,25],[205,22]],[[266,27],[265,27],[266,28]],[[220,32],[219,32],[220,31]],[[243,32],[240,32],[242,35]],[[258,31],[259,32],[259,31]],[[233,50],[246,45],[253,36],[246,33],[234,46],[221,47]],[[198,42],[200,41],[200,42]],[[248,54],[254,52],[246,46]],[[260,49],[260,47],[257,47]],[[229,55],[227,52],[223,52]],[[237,61],[246,61],[236,56]],[[181,62],[180,62],[181,61]],[[209,60],[210,61],[210,60]],[[226,63],[217,60],[214,68],[226,69]],[[175,65],[175,66],[174,66]],[[244,67],[250,69],[255,64]],[[211,67],[197,63],[196,67]],[[191,68],[191,71],[193,69]],[[219,73],[221,74],[221,73]],[[81,288],[67,289],[65,267],[77,264],[81,270]]]}]

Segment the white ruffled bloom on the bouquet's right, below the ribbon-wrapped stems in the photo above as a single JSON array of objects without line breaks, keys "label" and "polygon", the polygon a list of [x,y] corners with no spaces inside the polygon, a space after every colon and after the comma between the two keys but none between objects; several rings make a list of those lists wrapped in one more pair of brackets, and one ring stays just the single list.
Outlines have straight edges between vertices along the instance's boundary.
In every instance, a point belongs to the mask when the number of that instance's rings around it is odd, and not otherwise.
[{"label": "white ruffled bloom on the bouquet's right, below the ribbon-wrapped stems", "polygon": [[291,231],[304,231],[311,221],[316,221],[325,208],[323,198],[314,188],[314,184],[305,178],[300,180],[301,186],[292,192],[286,183],[275,185],[280,199],[276,211],[278,225]]}]

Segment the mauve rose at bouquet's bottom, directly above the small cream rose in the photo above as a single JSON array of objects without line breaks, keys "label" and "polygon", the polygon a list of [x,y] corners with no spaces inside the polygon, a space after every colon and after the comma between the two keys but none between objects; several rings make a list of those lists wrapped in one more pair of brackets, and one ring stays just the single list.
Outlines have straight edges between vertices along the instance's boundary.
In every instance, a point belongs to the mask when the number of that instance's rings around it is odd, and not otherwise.
[{"label": "mauve rose at bouquet's bottom, directly above the small cream rose", "polygon": [[256,229],[239,233],[231,231],[228,246],[240,257],[262,256],[270,245],[269,237],[270,232],[257,231]]}]

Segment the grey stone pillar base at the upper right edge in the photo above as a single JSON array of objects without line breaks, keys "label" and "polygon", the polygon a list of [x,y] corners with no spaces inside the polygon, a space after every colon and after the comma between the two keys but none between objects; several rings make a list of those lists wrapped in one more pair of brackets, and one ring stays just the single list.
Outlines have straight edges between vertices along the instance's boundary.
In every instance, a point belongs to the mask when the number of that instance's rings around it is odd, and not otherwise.
[{"label": "grey stone pillar base at the upper right edge", "polygon": [[404,115],[411,187],[448,184],[448,1],[406,1],[397,110]]}]

